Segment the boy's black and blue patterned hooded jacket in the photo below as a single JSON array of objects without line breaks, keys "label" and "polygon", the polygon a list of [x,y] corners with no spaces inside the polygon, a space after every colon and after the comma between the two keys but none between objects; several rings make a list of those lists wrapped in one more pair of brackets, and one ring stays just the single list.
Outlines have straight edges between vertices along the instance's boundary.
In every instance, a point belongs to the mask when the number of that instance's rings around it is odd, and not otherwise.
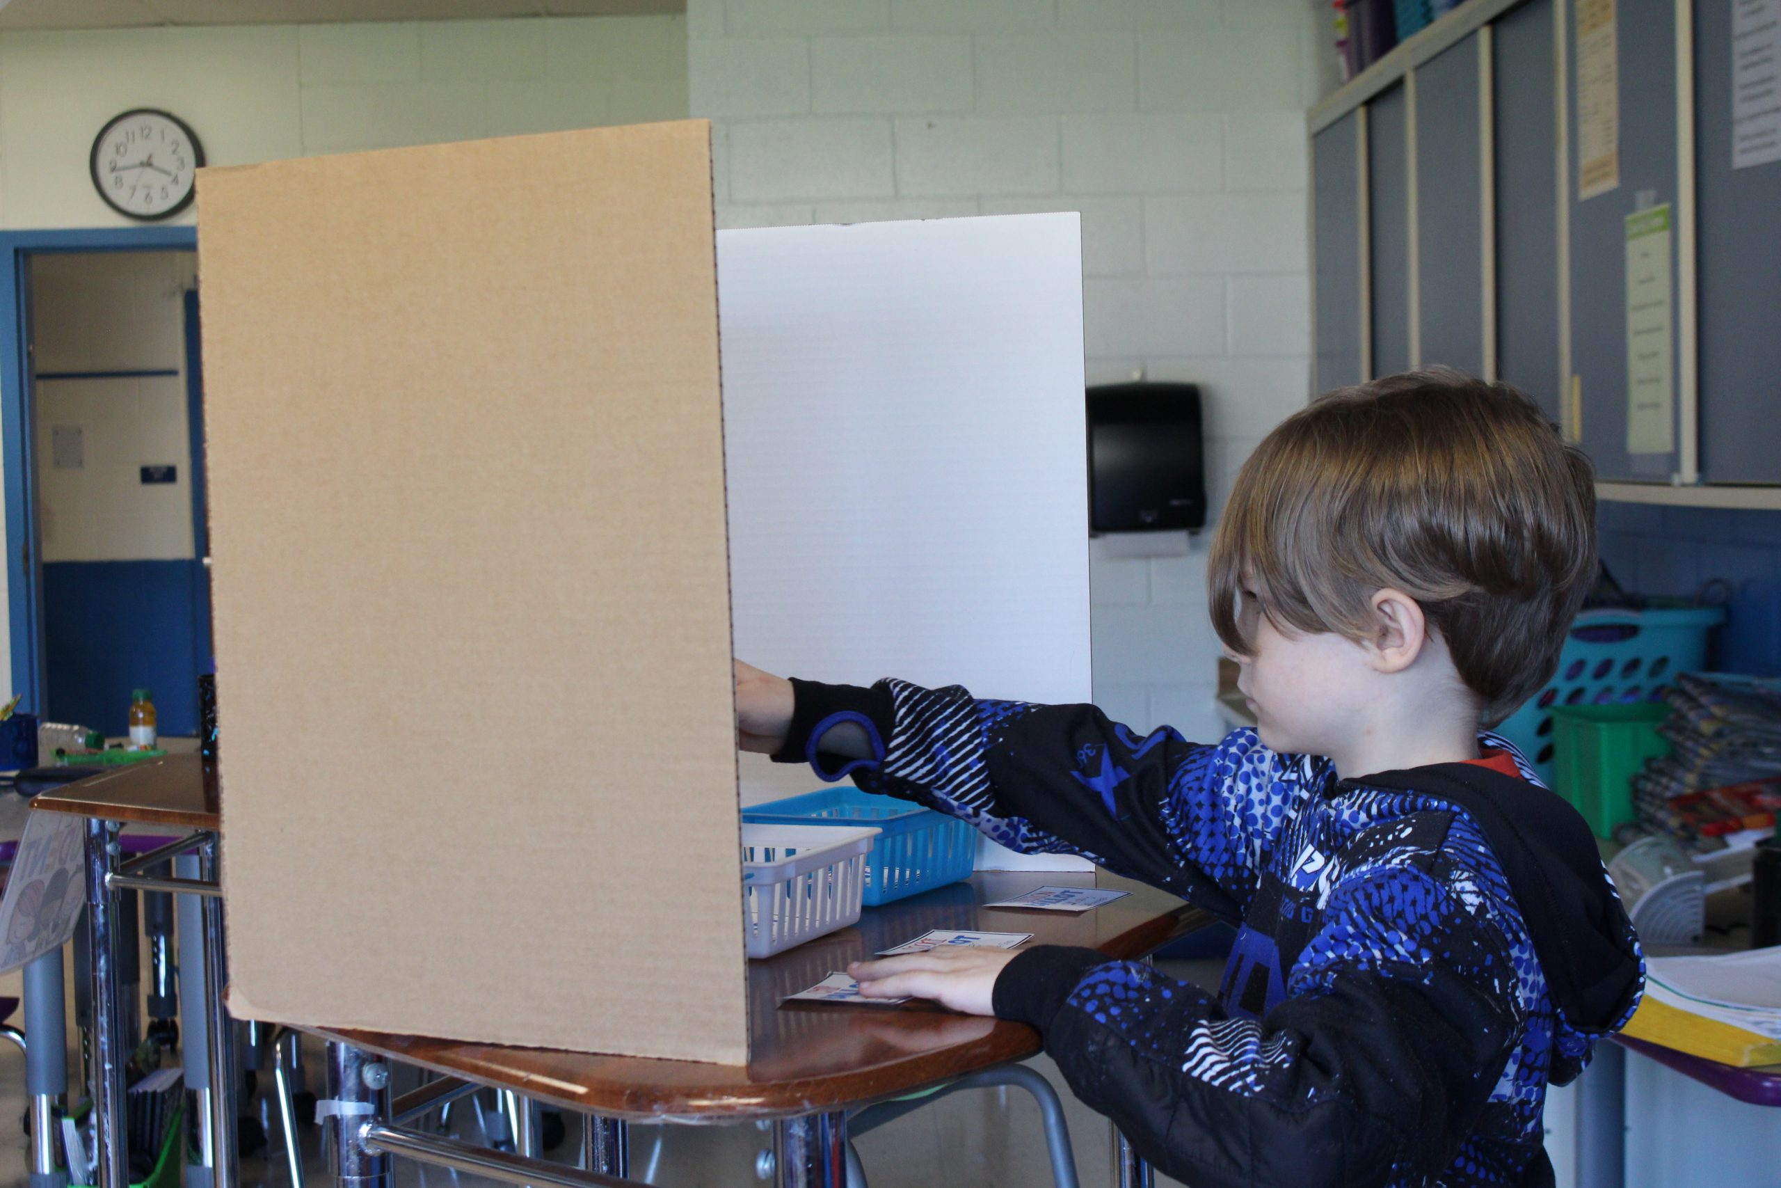
[{"label": "boy's black and blue patterned hooded jacket", "polygon": [[[1553,1183],[1546,1086],[1626,1022],[1644,960],[1583,819],[1519,757],[1519,780],[1478,764],[1339,780],[1254,730],[1204,746],[1094,705],[793,684],[775,759],[1240,926],[1216,996],[1060,946],[996,981],[996,1013],[1038,1028],[1161,1170],[1195,1188]],[[839,721],[871,759],[821,750]]]}]

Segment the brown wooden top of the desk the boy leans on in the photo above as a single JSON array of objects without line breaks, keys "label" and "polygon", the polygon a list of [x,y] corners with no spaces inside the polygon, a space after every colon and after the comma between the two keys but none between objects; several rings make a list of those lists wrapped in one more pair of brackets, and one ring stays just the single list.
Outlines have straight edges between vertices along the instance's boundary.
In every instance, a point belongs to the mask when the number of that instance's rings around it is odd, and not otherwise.
[{"label": "brown wooden top of the desk the boy leans on", "polygon": [[[413,1035],[301,1028],[404,1063],[513,1088],[568,1110],[630,1120],[734,1122],[841,1110],[951,1081],[1038,1053],[1019,1022],[955,1015],[933,1003],[828,1006],[780,999],[930,928],[1031,932],[1033,944],[1074,944],[1138,958],[1211,917],[1149,887],[1067,915],[985,908],[1044,885],[1094,885],[1094,875],[981,873],[965,883],[866,908],[860,923],[778,956],[748,962],[753,1060],[748,1067],[459,1044]],[[1026,948],[1022,946],[1022,948]],[[598,1010],[588,1003],[588,1010]]]}]

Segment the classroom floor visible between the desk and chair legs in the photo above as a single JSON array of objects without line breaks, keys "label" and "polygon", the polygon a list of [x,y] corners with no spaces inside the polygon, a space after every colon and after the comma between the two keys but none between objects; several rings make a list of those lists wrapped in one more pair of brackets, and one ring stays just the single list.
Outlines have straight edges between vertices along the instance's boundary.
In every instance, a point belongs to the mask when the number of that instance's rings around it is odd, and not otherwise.
[{"label": "classroom floor visible between the desk and chair legs", "polygon": [[[1222,962],[1159,962],[1168,972],[1199,985],[1216,983]],[[18,994],[16,972],[0,976],[0,996]],[[69,1003],[69,1013],[73,1003]],[[305,1049],[312,1076],[322,1069],[317,1046]],[[69,1056],[73,1069],[75,1056]],[[1076,1168],[1085,1188],[1110,1183],[1111,1152],[1104,1119],[1090,1111],[1063,1088],[1056,1067],[1044,1056],[1033,1067],[1058,1085],[1070,1119],[1070,1140],[1076,1147]],[[267,1078],[269,1081],[271,1078]],[[28,1147],[20,1124],[11,1119],[25,1111],[25,1058],[12,1046],[0,1046],[0,1184],[25,1184]],[[312,1085],[319,1088],[319,1085]],[[255,1108],[267,1124],[272,1158],[264,1154],[242,1161],[242,1188],[287,1188],[290,1176],[280,1149],[276,1111],[262,1094]],[[568,1138],[550,1158],[575,1160],[579,1151],[575,1119],[568,1120]],[[452,1131],[468,1142],[483,1142],[476,1111],[463,1103],[452,1117]],[[305,1179],[310,1184],[328,1184],[319,1152],[319,1127],[306,1127],[303,1136]],[[956,1094],[944,1104],[917,1110],[890,1122],[857,1143],[860,1163],[871,1188],[931,1188],[935,1184],[972,1184],[981,1188],[1038,1188],[1051,1183],[1051,1165],[1045,1160],[1044,1133],[1038,1110],[1031,1097],[1019,1090],[981,1090]],[[666,1188],[757,1188],[755,1161],[771,1135],[753,1126],[686,1127],[636,1126],[630,1131],[630,1177],[639,1183]],[[401,1188],[443,1186],[481,1188],[492,1184],[476,1176],[420,1168],[397,1160],[395,1183]],[[1175,1184],[1158,1177],[1158,1184]]]}]

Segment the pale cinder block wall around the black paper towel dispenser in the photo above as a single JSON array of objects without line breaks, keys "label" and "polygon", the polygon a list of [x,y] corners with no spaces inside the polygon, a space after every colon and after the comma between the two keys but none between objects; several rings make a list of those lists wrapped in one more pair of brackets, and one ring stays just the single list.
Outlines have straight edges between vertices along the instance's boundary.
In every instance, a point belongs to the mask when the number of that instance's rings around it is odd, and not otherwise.
[{"label": "pale cinder block wall around the black paper towel dispenser", "polygon": [[[723,226],[1083,212],[1088,381],[1204,385],[1215,509],[1309,387],[1307,0],[689,0]],[[1095,698],[1222,732],[1206,536],[1095,541]]]}]

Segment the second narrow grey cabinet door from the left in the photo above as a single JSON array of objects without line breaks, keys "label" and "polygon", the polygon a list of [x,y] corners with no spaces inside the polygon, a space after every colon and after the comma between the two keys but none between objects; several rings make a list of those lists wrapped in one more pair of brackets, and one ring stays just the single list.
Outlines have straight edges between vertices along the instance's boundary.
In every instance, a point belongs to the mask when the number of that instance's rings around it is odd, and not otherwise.
[{"label": "second narrow grey cabinet door from the left", "polygon": [[1373,273],[1373,374],[1411,369],[1411,187],[1403,85],[1366,107],[1368,239]]}]

